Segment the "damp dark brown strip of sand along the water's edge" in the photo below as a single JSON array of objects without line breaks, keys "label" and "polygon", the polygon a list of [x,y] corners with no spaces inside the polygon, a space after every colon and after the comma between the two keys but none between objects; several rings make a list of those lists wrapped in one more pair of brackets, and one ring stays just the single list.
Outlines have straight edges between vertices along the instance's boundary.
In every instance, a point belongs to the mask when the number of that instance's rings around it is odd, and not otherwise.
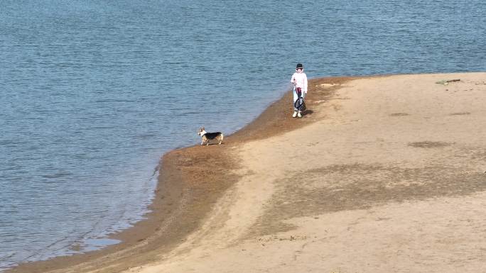
[{"label": "damp dark brown strip of sand along the water's edge", "polygon": [[308,111],[303,118],[291,117],[292,94],[287,92],[252,123],[225,138],[224,145],[195,145],[166,153],[150,206],[152,212],[146,220],[113,236],[122,243],[81,255],[21,264],[8,272],[121,272],[160,260],[202,224],[217,199],[237,181],[232,170],[239,166],[231,150],[249,140],[269,138],[317,121],[325,113],[313,109],[352,79],[357,78],[311,79]]}]

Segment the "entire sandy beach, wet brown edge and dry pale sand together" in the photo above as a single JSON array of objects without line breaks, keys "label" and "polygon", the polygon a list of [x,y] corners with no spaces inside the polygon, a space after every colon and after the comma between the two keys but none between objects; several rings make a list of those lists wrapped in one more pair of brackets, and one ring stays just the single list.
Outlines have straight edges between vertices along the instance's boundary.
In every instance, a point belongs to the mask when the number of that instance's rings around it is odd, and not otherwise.
[{"label": "entire sandy beach, wet brown edge and dry pale sand together", "polygon": [[312,79],[306,104],[164,155],[124,243],[9,272],[486,272],[485,72]]}]

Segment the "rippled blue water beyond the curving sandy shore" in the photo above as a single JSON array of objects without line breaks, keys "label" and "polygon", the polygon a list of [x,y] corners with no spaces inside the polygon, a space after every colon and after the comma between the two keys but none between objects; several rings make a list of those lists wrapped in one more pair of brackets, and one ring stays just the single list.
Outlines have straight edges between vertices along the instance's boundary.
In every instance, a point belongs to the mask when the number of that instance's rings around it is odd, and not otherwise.
[{"label": "rippled blue water beyond the curving sandy shore", "polygon": [[[0,2],[0,271],[143,218],[164,152],[308,77],[486,71],[486,2]],[[312,90],[312,89],[311,89]]]}]

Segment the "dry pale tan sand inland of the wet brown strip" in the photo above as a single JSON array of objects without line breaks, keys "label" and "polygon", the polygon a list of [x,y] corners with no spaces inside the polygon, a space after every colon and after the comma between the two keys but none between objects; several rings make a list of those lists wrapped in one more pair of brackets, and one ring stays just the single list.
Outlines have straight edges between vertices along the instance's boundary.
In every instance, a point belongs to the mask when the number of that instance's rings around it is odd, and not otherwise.
[{"label": "dry pale tan sand inland of the wet brown strip", "polygon": [[140,272],[484,272],[485,76],[342,84],[313,123],[235,147],[197,243]]}]

